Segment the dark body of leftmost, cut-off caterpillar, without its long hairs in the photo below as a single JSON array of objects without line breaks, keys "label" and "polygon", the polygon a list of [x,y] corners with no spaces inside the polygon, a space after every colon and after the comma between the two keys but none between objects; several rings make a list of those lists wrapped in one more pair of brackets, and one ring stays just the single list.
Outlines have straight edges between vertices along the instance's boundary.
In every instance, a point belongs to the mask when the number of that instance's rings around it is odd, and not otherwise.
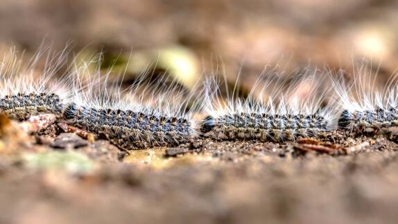
[{"label": "dark body of leftmost, cut-off caterpillar, without its long hairs", "polygon": [[0,111],[10,119],[24,121],[37,114],[61,114],[62,102],[57,94],[20,93],[1,98]]}]

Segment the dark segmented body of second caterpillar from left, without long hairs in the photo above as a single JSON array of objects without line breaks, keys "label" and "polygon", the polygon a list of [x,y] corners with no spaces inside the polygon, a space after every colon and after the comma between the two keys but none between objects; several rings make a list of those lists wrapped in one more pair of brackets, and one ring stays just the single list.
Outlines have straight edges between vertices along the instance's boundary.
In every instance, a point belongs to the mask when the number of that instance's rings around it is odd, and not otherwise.
[{"label": "dark segmented body of second caterpillar from left, without long hairs", "polygon": [[72,126],[105,134],[123,148],[175,146],[191,139],[191,123],[184,118],[144,114],[132,110],[97,110],[71,103],[63,111]]}]

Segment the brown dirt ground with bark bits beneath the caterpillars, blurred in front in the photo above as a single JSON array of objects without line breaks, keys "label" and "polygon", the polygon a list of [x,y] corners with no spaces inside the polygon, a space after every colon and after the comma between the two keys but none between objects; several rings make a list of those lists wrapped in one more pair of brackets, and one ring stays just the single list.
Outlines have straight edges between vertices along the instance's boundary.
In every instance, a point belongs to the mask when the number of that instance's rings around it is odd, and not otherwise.
[{"label": "brown dirt ground with bark bits beneath the caterpillars, blurred in front", "polygon": [[197,139],[123,155],[105,140],[36,135],[1,155],[0,223],[396,223],[391,139]]}]

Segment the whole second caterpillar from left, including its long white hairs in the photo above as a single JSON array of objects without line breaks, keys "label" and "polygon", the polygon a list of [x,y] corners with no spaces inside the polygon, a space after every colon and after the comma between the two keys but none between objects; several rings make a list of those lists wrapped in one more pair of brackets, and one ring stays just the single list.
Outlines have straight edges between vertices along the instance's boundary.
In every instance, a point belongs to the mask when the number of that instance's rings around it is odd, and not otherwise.
[{"label": "whole second caterpillar from left, including its long white hairs", "polygon": [[[82,77],[93,63],[96,69]],[[124,75],[109,86],[112,70],[101,71],[101,56],[88,64],[76,66],[71,76],[73,89],[78,90],[62,111],[67,123],[103,135],[126,150],[175,146],[198,135],[193,112],[200,104],[192,103],[198,92],[185,89],[178,79],[154,77],[147,70],[122,89]]]}]

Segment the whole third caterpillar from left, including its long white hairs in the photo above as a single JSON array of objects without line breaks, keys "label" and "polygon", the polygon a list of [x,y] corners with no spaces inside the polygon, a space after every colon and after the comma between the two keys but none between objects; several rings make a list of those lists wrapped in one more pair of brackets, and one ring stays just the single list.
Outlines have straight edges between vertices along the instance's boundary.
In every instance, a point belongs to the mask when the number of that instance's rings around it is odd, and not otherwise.
[{"label": "whole third caterpillar from left, including its long white hairs", "polygon": [[[329,91],[320,93],[315,77],[322,77],[316,73],[307,69],[292,83],[277,71],[263,73],[248,98],[235,97],[234,89],[226,102],[218,100],[218,87],[216,92],[208,89],[205,108],[209,117],[202,123],[202,132],[216,139],[294,141],[331,130],[333,110],[321,107]],[[256,91],[259,98],[254,98]]]}]

